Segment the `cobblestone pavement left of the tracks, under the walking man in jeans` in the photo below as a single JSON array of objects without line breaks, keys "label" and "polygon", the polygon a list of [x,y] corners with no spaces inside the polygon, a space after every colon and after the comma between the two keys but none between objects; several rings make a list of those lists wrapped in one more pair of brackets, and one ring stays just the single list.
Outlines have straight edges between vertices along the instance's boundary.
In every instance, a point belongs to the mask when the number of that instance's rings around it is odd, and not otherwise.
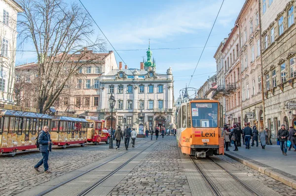
[{"label": "cobblestone pavement left of the tracks, under the walking man in jeans", "polygon": [[[138,144],[144,143],[145,139],[138,139]],[[114,149],[115,150],[115,149]],[[27,153],[16,155],[13,158],[0,157],[0,195],[11,196],[36,187],[44,182],[74,171],[89,163],[110,156],[119,151],[109,149],[109,145],[71,145],[66,149],[54,147],[49,154],[49,170],[51,174],[40,172],[36,174],[33,166],[42,158],[40,153]],[[39,167],[43,170],[43,165]]]}]

